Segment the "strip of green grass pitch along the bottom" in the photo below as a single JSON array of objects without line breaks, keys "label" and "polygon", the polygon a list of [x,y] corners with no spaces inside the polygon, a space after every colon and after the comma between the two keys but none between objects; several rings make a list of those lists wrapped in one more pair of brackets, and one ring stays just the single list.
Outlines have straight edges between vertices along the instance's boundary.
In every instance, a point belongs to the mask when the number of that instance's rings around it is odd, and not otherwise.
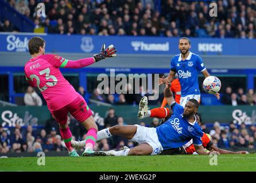
[{"label": "strip of green grass pitch along the bottom", "polygon": [[39,157],[0,158],[0,171],[83,171],[83,172],[169,172],[169,171],[256,171],[256,154],[218,156],[218,165],[210,165],[209,156],[126,156],[126,157]]}]

